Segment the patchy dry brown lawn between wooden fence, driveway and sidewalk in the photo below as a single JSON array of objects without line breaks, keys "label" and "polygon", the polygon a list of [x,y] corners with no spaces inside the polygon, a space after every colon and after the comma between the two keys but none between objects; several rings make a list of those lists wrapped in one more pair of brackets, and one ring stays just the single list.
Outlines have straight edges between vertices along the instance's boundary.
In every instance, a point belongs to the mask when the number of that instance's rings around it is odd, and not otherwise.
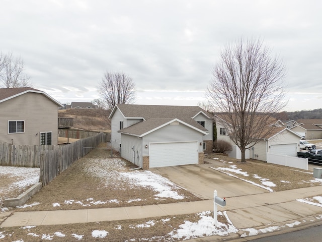
[{"label": "patchy dry brown lawn between wooden fence, driveway and sidewalk", "polygon": [[[102,143],[100,147],[106,147],[106,143]],[[117,158],[117,160],[107,159],[106,157],[109,156],[108,150],[94,149],[85,157],[75,161],[50,184],[43,187],[28,200],[28,204],[40,203],[39,205],[18,210],[88,209],[90,208],[89,205],[93,208],[127,207],[200,200],[190,192],[179,187],[176,189],[176,192],[184,196],[184,199],[164,198],[155,200],[157,192],[152,189],[131,186],[123,180],[118,180],[115,169],[118,172],[129,172],[129,169],[135,166],[126,160],[123,160],[126,164],[125,166],[118,166],[115,162],[121,158]],[[91,172],[91,170],[95,172]],[[97,176],[97,172],[101,171],[104,171],[102,174],[105,177]],[[115,199],[117,202],[114,201]],[[128,202],[138,199],[140,201]],[[65,201],[71,200],[73,200],[72,204],[66,204]],[[98,201],[106,203],[93,205],[93,202]],[[56,203],[59,203],[60,206],[54,207],[53,204]]]}]

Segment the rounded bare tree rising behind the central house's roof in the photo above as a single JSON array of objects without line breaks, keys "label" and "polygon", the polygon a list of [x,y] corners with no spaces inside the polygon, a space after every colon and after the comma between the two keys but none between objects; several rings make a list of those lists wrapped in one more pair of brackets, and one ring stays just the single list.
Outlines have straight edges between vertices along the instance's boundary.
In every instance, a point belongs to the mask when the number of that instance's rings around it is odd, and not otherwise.
[{"label": "rounded bare tree rising behind the central house's roof", "polygon": [[98,93],[112,110],[115,104],[131,104],[135,101],[135,84],[132,78],[121,72],[106,72],[99,83]]}]

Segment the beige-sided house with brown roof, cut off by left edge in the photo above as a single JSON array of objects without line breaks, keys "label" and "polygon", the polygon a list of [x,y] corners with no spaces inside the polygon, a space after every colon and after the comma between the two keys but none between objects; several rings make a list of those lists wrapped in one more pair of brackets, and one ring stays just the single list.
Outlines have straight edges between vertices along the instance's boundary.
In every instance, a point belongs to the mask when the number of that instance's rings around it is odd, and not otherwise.
[{"label": "beige-sided house with brown roof, cut off by left edge", "polygon": [[61,106],[34,88],[1,88],[0,143],[57,145],[57,109]]}]

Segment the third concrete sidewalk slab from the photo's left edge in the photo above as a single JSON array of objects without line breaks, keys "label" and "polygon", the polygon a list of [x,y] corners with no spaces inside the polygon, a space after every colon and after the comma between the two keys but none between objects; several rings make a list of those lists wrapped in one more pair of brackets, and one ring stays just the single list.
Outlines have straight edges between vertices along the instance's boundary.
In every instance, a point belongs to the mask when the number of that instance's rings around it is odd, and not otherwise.
[{"label": "third concrete sidewalk slab from the photo's left edge", "polygon": [[94,208],[88,210],[87,222],[115,221],[129,219],[125,208]]}]

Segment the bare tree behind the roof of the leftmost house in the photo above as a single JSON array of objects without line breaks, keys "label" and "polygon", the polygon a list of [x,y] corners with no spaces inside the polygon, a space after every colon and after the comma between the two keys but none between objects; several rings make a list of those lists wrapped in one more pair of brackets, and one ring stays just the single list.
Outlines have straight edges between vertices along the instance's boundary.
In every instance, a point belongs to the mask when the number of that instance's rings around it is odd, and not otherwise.
[{"label": "bare tree behind the roof of the leftmost house", "polygon": [[30,77],[24,73],[24,61],[12,53],[0,53],[0,87],[31,87]]}]

